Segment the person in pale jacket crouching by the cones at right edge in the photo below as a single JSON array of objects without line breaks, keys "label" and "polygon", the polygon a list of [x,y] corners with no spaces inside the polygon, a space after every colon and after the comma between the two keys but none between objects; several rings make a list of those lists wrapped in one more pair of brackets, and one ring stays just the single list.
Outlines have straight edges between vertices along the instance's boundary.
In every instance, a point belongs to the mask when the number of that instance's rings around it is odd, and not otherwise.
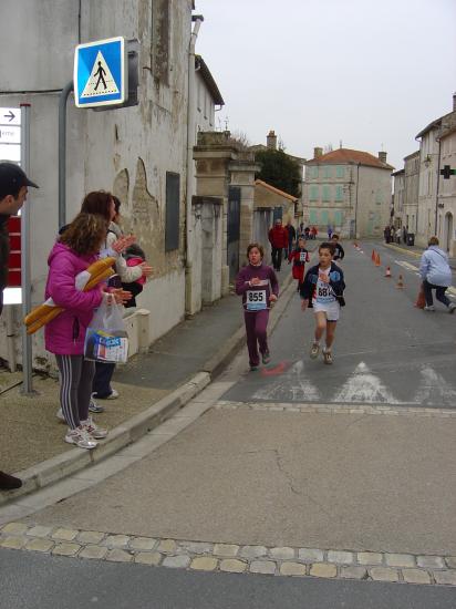
[{"label": "person in pale jacket crouching by the cones at right edge", "polygon": [[425,311],[435,311],[433,290],[435,297],[453,313],[456,304],[445,295],[446,289],[452,285],[452,269],[448,265],[448,257],[438,247],[437,237],[431,237],[427,249],[423,252],[419,262],[419,275],[423,279],[424,296],[426,298]]}]

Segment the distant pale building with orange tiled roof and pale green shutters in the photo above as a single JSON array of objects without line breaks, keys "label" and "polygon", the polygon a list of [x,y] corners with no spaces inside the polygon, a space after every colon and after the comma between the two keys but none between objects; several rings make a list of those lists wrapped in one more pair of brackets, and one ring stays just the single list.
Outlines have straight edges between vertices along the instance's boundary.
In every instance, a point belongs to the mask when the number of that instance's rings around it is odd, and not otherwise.
[{"label": "distant pale building with orange tiled roof and pale green shutters", "polygon": [[386,153],[379,157],[339,148],[305,163],[304,224],[342,237],[381,237],[390,221],[391,172]]}]

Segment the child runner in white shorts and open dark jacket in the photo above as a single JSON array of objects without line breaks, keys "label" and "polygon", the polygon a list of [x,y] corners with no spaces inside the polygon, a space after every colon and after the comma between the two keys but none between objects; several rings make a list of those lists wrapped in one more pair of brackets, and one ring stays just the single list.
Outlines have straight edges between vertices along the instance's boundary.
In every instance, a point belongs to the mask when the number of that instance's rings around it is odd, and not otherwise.
[{"label": "child runner in white shorts and open dark jacket", "polygon": [[310,268],[301,287],[301,309],[313,307],[315,312],[315,334],[310,348],[311,359],[320,353],[320,340],[325,336],[325,349],[323,349],[324,363],[332,363],[331,348],[334,341],[335,324],[338,323],[341,307],[345,304],[343,290],[345,282],[343,271],[332,261],[334,245],[321,244],[319,247],[319,264]]}]

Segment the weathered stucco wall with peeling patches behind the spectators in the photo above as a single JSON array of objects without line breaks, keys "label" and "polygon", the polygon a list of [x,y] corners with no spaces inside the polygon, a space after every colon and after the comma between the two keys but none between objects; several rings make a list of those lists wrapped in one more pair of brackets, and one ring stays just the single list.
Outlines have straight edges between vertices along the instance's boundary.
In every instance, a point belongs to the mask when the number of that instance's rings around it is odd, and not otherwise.
[{"label": "weathered stucco wall with peeling patches behind the spectators", "polygon": [[[138,304],[152,311],[151,338],[165,333],[184,317],[184,218],[187,142],[187,51],[191,1],[173,2],[167,82],[154,74],[153,20],[163,2],[152,0],[81,1],[81,42],[114,35],[139,41],[139,105],[94,112],[68,103],[68,219],[91,189],[108,189],[123,202],[124,228],[133,230],[154,278]],[[155,13],[153,14],[153,11]],[[79,2],[6,0],[0,7],[0,103],[31,102],[30,175],[40,185],[31,192],[31,260],[33,303],[41,302],[46,256],[58,230],[59,92],[73,76],[79,38]],[[8,14],[8,19],[3,16]],[[27,37],[18,35],[27,31]],[[39,91],[39,93],[31,93]],[[14,92],[27,92],[18,94]],[[180,239],[177,250],[164,251],[166,172],[180,176]],[[0,357],[4,358],[0,326]],[[44,355],[41,336],[34,355]]]}]

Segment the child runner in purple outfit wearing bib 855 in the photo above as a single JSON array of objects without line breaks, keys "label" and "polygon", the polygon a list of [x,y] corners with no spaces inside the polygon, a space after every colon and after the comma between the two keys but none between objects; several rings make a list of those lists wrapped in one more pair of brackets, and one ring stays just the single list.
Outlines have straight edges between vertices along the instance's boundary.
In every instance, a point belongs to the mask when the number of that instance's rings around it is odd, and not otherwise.
[{"label": "child runner in purple outfit wearing bib 855", "polygon": [[236,293],[242,296],[250,370],[258,370],[260,363],[258,344],[262,363],[270,362],[267,337],[269,309],[279,296],[277,276],[271,267],[262,264],[263,256],[262,246],[250,244],[247,248],[249,264],[236,278]]}]

